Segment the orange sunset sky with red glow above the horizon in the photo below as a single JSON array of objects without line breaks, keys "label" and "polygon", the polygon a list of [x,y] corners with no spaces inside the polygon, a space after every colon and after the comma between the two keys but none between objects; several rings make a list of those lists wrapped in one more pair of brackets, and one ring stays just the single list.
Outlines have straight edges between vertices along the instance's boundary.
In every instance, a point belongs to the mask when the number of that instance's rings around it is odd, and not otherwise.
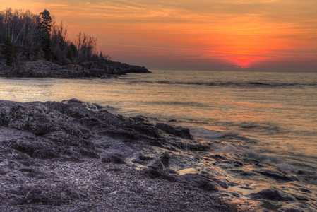
[{"label": "orange sunset sky with red glow above the horizon", "polygon": [[114,61],[148,69],[316,71],[316,0],[0,0],[47,9]]}]

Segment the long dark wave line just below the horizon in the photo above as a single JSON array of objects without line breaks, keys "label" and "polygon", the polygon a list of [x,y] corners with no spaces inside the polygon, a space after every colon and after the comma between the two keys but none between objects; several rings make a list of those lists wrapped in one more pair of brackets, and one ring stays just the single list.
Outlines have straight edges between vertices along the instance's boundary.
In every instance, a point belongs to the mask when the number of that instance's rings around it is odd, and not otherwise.
[{"label": "long dark wave line just below the horizon", "polygon": [[130,84],[167,84],[167,85],[197,85],[197,86],[218,86],[218,87],[242,87],[242,88],[317,88],[317,83],[263,83],[257,81],[247,82],[190,82],[190,81],[131,81]]}]

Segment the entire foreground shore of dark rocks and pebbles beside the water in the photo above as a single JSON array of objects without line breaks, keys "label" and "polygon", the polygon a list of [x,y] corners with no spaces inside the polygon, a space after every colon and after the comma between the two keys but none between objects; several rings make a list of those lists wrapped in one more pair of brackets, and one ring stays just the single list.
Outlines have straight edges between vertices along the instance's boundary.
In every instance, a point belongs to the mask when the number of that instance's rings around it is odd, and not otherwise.
[{"label": "entire foreground shore of dark rocks and pebbles beside the water", "polygon": [[1,211],[317,209],[296,173],[181,126],[76,99],[0,107]]}]

